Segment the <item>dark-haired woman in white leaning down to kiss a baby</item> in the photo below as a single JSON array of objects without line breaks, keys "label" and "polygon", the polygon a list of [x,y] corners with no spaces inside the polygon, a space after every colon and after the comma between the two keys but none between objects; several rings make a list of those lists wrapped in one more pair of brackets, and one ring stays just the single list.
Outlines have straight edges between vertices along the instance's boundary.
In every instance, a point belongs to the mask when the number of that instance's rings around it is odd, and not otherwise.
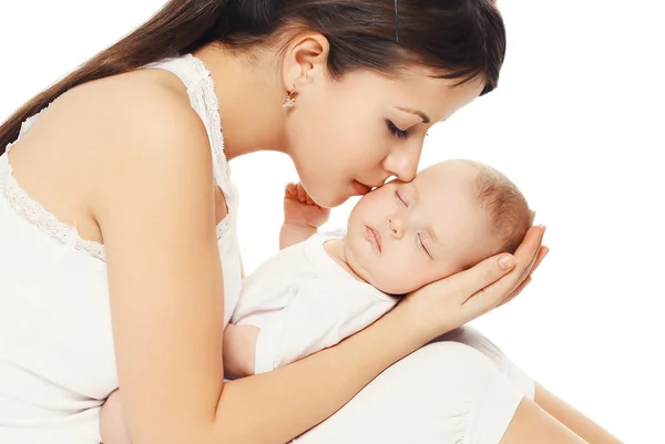
[{"label": "dark-haired woman in white leaning down to kiss a baby", "polygon": [[172,0],[29,102],[0,127],[0,441],[96,442],[120,384],[136,444],[284,443],[321,422],[297,441],[582,442],[477,333],[412,353],[519,293],[540,227],[338,347],[224,382],[227,159],[284,152],[325,206],[409,180],[426,131],[492,91],[503,54],[490,0]]}]

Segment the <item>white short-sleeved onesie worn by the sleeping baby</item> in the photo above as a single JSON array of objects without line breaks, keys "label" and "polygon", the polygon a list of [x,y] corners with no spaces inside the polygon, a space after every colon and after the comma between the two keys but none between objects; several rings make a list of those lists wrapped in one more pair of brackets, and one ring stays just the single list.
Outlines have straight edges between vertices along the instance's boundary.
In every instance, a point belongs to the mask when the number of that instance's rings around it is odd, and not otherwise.
[{"label": "white short-sleeved onesie worn by the sleeping baby", "polygon": [[231,319],[260,329],[255,373],[308,357],[362,330],[397,303],[354,278],[324,249],[339,234],[316,235],[282,250],[243,280]]}]

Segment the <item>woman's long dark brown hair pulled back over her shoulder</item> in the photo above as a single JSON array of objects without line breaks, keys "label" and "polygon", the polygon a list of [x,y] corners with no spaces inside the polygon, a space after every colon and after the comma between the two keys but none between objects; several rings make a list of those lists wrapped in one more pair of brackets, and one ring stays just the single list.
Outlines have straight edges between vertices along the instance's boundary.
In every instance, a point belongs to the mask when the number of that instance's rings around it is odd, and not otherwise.
[{"label": "woman's long dark brown hair pulled back over her shoulder", "polygon": [[23,121],[74,86],[211,42],[248,49],[289,23],[328,39],[334,76],[358,69],[388,73],[416,61],[442,78],[481,76],[487,93],[497,86],[505,53],[505,30],[493,0],[171,0],[12,114],[0,126],[0,155]]}]

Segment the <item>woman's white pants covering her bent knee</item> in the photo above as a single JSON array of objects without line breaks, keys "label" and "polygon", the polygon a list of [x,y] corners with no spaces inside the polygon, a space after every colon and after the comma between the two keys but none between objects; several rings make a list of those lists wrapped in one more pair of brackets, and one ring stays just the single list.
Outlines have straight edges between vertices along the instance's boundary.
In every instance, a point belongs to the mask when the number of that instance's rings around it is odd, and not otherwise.
[{"label": "woman's white pants covering her bent knee", "polygon": [[295,444],[498,444],[534,383],[464,327],[377,376]]}]

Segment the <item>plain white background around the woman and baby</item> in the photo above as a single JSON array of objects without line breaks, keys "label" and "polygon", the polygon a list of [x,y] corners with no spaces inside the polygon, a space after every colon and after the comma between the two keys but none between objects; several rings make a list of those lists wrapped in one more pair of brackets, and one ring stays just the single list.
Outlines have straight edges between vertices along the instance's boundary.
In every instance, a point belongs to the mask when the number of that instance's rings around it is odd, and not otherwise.
[{"label": "plain white background around the woman and baby", "polygon": [[[2,1],[0,118],[162,3]],[[509,32],[500,87],[436,126],[422,157],[422,166],[489,163],[538,209],[552,252],[521,298],[477,324],[630,443],[665,435],[661,4],[500,1]],[[295,173],[269,153],[233,171],[250,271],[277,249],[283,185]],[[349,208],[331,225],[342,226]]]}]

